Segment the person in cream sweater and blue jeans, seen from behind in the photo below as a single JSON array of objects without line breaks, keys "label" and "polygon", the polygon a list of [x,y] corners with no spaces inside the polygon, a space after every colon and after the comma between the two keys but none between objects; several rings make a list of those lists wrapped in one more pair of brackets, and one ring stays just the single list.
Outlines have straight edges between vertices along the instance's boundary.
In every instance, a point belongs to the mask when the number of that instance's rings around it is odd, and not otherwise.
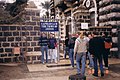
[{"label": "person in cream sweater and blue jeans, seen from behind", "polygon": [[[85,63],[86,63],[86,52],[87,42],[84,39],[83,31],[81,31],[79,37],[75,40],[74,55],[76,58],[77,75],[85,75]],[[80,69],[80,61],[82,68]]]}]

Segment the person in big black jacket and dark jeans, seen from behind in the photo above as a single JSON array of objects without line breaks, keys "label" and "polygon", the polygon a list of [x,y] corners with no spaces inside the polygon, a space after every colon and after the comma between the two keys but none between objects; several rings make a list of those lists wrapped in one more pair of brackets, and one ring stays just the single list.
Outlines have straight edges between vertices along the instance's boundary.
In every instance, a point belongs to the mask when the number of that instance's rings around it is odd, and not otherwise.
[{"label": "person in big black jacket and dark jeans, seen from behind", "polygon": [[104,69],[103,69],[103,63],[102,63],[102,56],[105,51],[104,48],[104,40],[102,37],[98,37],[97,32],[93,32],[93,38],[89,41],[89,51],[93,55],[93,61],[94,61],[94,73],[93,76],[98,77],[98,64],[101,71],[101,77],[104,76]]}]

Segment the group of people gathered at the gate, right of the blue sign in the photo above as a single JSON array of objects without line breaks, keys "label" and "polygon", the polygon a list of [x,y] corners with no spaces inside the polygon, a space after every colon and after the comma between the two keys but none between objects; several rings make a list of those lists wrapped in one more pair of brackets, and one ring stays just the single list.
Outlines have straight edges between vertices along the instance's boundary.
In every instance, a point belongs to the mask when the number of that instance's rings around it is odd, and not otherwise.
[{"label": "group of people gathered at the gate, right of the blue sign", "polygon": [[[112,39],[107,32],[101,35],[98,32],[92,34],[79,32],[78,36],[66,36],[64,58],[69,55],[72,67],[76,60],[77,75],[85,75],[86,58],[89,59],[89,68],[94,69],[93,76],[98,77],[98,63],[101,76],[104,69],[108,69],[108,55],[112,47]],[[104,67],[103,67],[104,62]]]}]

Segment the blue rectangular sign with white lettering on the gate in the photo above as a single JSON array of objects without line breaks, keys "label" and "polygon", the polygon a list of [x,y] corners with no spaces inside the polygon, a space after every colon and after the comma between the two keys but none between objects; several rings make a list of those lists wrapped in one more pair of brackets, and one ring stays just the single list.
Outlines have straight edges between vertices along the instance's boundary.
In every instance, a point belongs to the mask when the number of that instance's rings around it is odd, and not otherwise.
[{"label": "blue rectangular sign with white lettering on the gate", "polygon": [[58,22],[40,22],[40,31],[56,32],[59,31]]}]

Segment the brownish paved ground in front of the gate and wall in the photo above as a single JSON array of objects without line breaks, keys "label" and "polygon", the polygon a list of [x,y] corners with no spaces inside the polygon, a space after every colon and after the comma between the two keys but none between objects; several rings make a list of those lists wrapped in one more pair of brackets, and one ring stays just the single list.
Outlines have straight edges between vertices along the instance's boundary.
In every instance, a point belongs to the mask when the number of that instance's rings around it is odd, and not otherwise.
[{"label": "brownish paved ground in front of the gate and wall", "polygon": [[[120,80],[120,59],[109,59],[110,70],[103,78],[88,74],[87,80]],[[68,80],[68,76],[76,74],[76,68],[71,66],[54,66],[69,64],[69,60],[61,60],[58,64],[22,64],[15,67],[0,66],[0,80]]]}]

